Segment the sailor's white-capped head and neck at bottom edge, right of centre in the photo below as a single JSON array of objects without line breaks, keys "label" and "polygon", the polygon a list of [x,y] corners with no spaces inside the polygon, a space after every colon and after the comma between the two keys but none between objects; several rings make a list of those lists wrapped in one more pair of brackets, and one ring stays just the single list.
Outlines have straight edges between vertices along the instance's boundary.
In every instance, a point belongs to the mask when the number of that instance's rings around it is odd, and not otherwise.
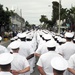
[{"label": "sailor's white-capped head and neck at bottom edge, right of centre", "polygon": [[68,62],[63,57],[54,57],[51,60],[51,66],[53,68],[52,75],[64,75],[65,70],[68,68]]}]

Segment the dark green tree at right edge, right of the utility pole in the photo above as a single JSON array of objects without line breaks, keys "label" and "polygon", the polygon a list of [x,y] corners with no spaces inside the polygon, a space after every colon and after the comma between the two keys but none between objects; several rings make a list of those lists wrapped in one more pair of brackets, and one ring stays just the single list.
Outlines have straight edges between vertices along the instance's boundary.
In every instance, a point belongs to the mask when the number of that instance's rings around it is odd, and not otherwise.
[{"label": "dark green tree at right edge, right of the utility pole", "polygon": [[61,20],[66,20],[66,23],[70,25],[71,30],[75,30],[75,7],[71,7],[70,9],[62,8],[61,9]]}]

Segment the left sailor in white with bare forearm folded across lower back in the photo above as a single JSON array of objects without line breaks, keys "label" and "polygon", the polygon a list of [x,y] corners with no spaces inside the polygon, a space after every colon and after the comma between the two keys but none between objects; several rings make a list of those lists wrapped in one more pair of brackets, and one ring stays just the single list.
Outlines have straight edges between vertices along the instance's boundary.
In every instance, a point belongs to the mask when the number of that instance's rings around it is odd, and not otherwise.
[{"label": "left sailor in white with bare forearm folded across lower back", "polygon": [[11,62],[11,70],[13,74],[30,75],[30,65],[27,59],[20,55],[19,52],[20,42],[14,41],[10,43],[10,48],[13,50],[14,59]]}]

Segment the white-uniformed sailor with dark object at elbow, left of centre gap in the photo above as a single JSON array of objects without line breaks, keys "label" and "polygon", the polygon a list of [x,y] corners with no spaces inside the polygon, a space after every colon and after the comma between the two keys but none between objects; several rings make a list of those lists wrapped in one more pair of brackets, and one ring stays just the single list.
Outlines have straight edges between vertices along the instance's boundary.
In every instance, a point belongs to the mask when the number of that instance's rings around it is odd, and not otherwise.
[{"label": "white-uniformed sailor with dark object at elbow, left of centre gap", "polygon": [[30,42],[26,41],[26,34],[22,33],[19,35],[19,38],[21,40],[19,54],[22,56],[25,56],[30,64],[30,72],[33,72],[33,57],[34,57],[34,49],[32,48],[32,45]]}]

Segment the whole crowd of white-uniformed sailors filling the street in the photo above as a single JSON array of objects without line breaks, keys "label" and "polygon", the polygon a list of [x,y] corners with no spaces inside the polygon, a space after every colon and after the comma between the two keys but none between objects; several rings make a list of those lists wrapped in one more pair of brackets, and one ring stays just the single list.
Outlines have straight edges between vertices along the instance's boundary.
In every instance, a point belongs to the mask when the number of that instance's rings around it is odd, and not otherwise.
[{"label": "whole crowd of white-uniformed sailors filling the street", "polygon": [[74,38],[71,31],[19,32],[7,47],[0,45],[0,75],[30,75],[36,65],[40,75],[75,75]]}]

